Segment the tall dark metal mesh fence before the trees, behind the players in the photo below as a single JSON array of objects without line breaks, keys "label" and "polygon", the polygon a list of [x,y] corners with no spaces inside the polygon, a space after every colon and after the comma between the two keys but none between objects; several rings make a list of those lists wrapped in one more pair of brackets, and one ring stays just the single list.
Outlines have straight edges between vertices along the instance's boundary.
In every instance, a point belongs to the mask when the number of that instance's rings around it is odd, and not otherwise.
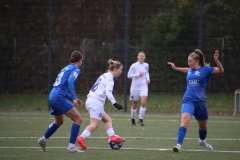
[{"label": "tall dark metal mesh fence before the trees, behind the players", "polygon": [[236,16],[222,24],[218,15],[224,5],[217,1],[1,1],[0,92],[49,92],[74,50],[84,54],[77,93],[89,91],[111,58],[124,64],[114,92],[127,94],[126,74],[140,50],[150,65],[151,93],[183,92],[185,75],[172,71],[167,61],[187,67],[195,48],[211,66],[214,50],[220,50],[225,73],[213,76],[208,91],[232,92],[239,88],[240,14],[234,8],[239,2],[221,2],[235,13],[225,8],[225,14]]}]

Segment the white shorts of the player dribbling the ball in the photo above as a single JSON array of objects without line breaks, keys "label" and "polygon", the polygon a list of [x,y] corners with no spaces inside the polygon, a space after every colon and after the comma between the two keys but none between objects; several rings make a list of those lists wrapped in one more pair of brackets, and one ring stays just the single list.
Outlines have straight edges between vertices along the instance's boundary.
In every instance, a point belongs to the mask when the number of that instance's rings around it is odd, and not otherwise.
[{"label": "white shorts of the player dribbling the ball", "polygon": [[94,97],[88,97],[86,100],[86,109],[91,118],[102,120],[104,112],[104,102]]}]

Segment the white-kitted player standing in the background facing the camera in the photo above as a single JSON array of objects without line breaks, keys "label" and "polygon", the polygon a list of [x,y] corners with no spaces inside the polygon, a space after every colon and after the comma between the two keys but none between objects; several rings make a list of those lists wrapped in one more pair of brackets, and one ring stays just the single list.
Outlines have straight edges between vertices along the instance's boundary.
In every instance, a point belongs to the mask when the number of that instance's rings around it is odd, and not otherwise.
[{"label": "white-kitted player standing in the background facing the camera", "polygon": [[141,99],[141,106],[139,111],[139,124],[144,126],[143,117],[146,113],[146,102],[148,96],[148,84],[150,83],[149,65],[145,63],[145,53],[138,53],[138,61],[133,63],[128,71],[128,78],[132,79],[130,88],[130,100],[132,101],[131,107],[131,122],[135,126],[135,116],[137,112],[137,104]]}]

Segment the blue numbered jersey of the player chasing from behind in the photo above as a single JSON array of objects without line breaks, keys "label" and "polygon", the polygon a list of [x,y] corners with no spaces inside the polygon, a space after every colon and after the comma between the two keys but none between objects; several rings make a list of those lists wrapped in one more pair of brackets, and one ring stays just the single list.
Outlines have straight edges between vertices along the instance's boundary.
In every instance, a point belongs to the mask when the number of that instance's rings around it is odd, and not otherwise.
[{"label": "blue numbered jersey of the player chasing from behind", "polygon": [[74,64],[69,64],[63,68],[58,74],[55,83],[53,84],[53,89],[49,95],[49,99],[63,100],[67,98],[70,100],[75,100],[76,94],[74,89],[74,82],[76,81],[79,74],[80,69]]}]

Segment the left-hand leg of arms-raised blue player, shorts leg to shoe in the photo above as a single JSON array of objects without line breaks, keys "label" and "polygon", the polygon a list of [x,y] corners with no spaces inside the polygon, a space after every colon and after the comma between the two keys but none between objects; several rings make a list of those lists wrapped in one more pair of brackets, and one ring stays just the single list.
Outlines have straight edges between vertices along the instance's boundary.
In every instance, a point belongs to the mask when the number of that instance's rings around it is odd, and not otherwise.
[{"label": "left-hand leg of arms-raised blue player, shorts leg to shoe", "polygon": [[177,145],[173,146],[174,152],[180,152],[183,140],[185,138],[191,117],[194,113],[194,105],[191,103],[183,103],[182,104],[182,111],[181,111],[181,124],[178,129],[177,134]]}]

